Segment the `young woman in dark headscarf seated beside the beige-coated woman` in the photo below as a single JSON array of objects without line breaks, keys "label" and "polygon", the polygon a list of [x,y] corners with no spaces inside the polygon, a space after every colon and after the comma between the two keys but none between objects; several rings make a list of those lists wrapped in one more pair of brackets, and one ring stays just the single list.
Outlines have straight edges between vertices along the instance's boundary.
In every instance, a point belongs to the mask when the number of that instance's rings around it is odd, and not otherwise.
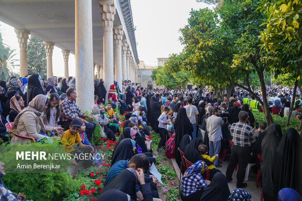
[{"label": "young woman in dark headscarf seated beside the beige-coated woman", "polygon": [[57,119],[60,115],[59,100],[60,97],[57,93],[51,93],[49,95],[49,103],[45,110],[44,125],[57,127]]}]

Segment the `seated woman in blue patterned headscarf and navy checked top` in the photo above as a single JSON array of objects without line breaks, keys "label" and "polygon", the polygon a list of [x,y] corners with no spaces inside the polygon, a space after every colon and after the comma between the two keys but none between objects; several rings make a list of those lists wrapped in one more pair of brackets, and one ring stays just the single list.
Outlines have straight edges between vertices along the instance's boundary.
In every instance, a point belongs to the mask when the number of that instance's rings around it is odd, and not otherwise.
[{"label": "seated woman in blue patterned headscarf and navy checked top", "polygon": [[189,168],[181,180],[181,199],[183,201],[199,201],[203,193],[203,189],[209,184],[201,176],[208,169],[208,165],[204,161],[197,161]]}]

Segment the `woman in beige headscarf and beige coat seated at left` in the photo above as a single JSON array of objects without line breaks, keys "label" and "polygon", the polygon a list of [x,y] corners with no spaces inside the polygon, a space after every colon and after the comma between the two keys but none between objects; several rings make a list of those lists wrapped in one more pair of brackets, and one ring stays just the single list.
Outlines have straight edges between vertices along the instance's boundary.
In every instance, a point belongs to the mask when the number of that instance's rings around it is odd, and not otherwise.
[{"label": "woman in beige headscarf and beige coat seated at left", "polygon": [[[36,141],[42,138],[49,138],[46,133],[56,131],[57,133],[64,134],[63,128],[49,127],[43,124],[42,115],[43,111],[47,108],[49,99],[43,95],[38,94],[31,102],[28,107],[24,108],[16,117],[13,129],[17,129],[17,133],[26,137],[33,137]],[[52,137],[52,139],[57,139]],[[12,137],[11,144],[20,143],[25,144],[29,140],[22,139],[19,137]]]}]

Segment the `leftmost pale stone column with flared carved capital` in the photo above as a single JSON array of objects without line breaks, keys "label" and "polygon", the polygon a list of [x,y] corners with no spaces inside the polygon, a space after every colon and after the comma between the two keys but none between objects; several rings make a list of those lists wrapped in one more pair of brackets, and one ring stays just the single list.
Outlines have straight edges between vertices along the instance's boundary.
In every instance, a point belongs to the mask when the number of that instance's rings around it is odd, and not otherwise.
[{"label": "leftmost pale stone column with flared carved capital", "polygon": [[26,29],[15,29],[18,37],[19,48],[20,48],[20,77],[24,77],[28,74],[27,70],[27,40],[29,31]]}]

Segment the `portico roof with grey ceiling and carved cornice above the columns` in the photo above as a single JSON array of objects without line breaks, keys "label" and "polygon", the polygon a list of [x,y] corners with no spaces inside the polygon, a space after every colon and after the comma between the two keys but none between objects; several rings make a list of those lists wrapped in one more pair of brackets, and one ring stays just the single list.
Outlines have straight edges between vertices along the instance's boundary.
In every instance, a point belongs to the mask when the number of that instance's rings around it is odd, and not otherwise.
[{"label": "portico roof with grey ceiling and carved cornice above the columns", "polygon": [[[123,26],[123,38],[138,63],[130,0],[115,0],[115,5],[113,26]],[[103,22],[98,0],[92,0],[92,20],[94,63],[102,66]],[[75,54],[75,0],[0,0],[0,21]]]}]

